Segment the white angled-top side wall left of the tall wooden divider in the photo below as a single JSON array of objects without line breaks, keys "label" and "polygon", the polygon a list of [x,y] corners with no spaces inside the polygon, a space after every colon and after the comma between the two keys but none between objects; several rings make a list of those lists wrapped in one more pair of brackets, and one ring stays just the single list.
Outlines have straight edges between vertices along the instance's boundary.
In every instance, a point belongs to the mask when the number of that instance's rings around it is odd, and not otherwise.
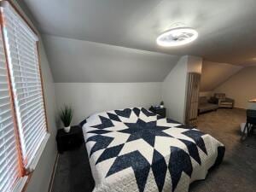
[{"label": "white angled-top side wall left of the tall wooden divider", "polygon": [[188,56],[181,57],[162,83],[162,98],[166,106],[166,116],[179,122],[184,121],[187,63]]}]

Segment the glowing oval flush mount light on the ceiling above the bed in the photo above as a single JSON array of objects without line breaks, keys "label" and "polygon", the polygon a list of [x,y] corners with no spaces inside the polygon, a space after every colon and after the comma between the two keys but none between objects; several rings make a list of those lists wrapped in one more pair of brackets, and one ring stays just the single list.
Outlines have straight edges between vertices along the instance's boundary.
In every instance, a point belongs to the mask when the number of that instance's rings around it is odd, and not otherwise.
[{"label": "glowing oval flush mount light on the ceiling above the bed", "polygon": [[198,32],[189,27],[177,27],[170,29],[156,39],[156,43],[163,47],[175,47],[189,44],[198,37]]}]

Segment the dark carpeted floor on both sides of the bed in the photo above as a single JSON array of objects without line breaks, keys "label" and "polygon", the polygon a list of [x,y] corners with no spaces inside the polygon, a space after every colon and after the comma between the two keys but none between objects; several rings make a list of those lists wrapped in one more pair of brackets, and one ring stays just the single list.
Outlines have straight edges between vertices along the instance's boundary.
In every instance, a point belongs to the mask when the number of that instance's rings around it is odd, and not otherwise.
[{"label": "dark carpeted floor on both sides of the bed", "polygon": [[[224,162],[203,181],[190,185],[189,192],[255,192],[256,136],[240,142],[240,124],[246,120],[243,109],[218,109],[199,116],[201,131],[216,137],[226,147]],[[90,192],[94,181],[82,146],[60,155],[52,192]]]}]

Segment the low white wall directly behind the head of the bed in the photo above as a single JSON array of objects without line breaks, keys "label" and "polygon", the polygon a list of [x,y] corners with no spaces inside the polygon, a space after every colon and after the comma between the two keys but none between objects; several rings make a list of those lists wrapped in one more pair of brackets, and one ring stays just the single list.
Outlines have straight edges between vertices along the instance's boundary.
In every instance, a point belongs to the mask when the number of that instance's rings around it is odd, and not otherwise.
[{"label": "low white wall directly behind the head of the bed", "polygon": [[161,83],[55,83],[58,108],[71,104],[73,124],[106,110],[145,107],[161,101]]}]

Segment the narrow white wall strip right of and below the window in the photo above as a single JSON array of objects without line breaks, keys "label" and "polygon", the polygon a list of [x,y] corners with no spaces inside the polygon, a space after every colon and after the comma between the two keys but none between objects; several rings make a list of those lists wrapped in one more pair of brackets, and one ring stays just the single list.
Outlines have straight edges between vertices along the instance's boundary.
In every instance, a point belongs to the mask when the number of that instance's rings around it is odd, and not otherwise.
[{"label": "narrow white wall strip right of and below the window", "polygon": [[[15,3],[18,7],[19,5]],[[20,9],[21,10],[21,9]],[[23,9],[26,13],[26,9]],[[47,192],[51,173],[53,171],[55,157],[56,157],[56,144],[55,144],[55,84],[49,69],[49,62],[44,52],[44,44],[42,39],[39,40],[39,59],[41,61],[41,70],[44,83],[44,96],[46,104],[46,113],[49,125],[49,141],[44,148],[44,152],[38,161],[35,171],[32,173],[32,178],[29,181],[26,192]]]}]

